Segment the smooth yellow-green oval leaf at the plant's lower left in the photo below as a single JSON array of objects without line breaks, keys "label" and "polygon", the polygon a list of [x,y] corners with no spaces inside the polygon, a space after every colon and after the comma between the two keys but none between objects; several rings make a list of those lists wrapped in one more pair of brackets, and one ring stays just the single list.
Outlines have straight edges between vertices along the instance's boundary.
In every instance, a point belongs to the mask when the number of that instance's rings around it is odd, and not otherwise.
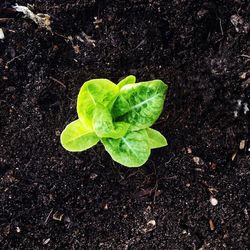
[{"label": "smooth yellow-green oval leaf at the plant's lower left", "polygon": [[67,125],[61,134],[62,146],[72,152],[80,152],[91,148],[98,141],[99,138],[96,134],[84,128],[79,119]]}]

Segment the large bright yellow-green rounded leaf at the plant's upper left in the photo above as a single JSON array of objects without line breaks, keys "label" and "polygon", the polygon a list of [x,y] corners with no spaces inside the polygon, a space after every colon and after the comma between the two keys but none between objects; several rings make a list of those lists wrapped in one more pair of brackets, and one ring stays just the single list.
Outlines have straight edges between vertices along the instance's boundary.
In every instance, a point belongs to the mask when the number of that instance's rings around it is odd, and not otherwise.
[{"label": "large bright yellow-green rounded leaf at the plant's upper left", "polygon": [[118,92],[119,87],[107,79],[93,79],[83,84],[77,98],[77,113],[86,128],[93,128],[92,118],[96,104],[112,106]]}]

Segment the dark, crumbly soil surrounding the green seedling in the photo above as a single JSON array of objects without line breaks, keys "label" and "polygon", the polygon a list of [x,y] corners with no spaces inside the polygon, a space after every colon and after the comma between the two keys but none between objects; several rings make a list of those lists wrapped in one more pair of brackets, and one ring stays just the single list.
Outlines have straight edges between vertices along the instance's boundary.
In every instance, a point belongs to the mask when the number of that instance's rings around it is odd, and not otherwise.
[{"label": "dark, crumbly soil surrounding the green seedling", "polygon": [[[249,1],[10,2],[0,3],[1,249],[249,249]],[[52,32],[14,3],[50,15]],[[169,84],[155,125],[169,146],[137,169],[101,145],[65,151],[83,82],[128,74]]]}]

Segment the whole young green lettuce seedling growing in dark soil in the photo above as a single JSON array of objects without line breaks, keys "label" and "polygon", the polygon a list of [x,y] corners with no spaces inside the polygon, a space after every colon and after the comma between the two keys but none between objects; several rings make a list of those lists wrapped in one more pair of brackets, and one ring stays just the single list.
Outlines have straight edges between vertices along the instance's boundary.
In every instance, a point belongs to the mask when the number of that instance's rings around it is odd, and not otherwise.
[{"label": "whole young green lettuce seedling growing in dark soil", "polygon": [[135,82],[132,75],[117,85],[107,79],[85,82],[77,98],[78,119],[63,130],[62,146],[80,152],[100,141],[114,161],[127,167],[142,166],[151,149],[167,146],[150,127],[162,112],[168,86],[161,80]]}]

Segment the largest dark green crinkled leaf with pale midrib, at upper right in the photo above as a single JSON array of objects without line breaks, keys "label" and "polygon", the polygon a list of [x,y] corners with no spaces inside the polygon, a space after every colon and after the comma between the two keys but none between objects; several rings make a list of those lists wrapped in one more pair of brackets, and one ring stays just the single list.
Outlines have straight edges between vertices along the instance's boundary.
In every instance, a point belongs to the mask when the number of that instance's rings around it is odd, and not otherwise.
[{"label": "largest dark green crinkled leaf with pale midrib, at upper right", "polygon": [[115,121],[131,124],[132,130],[152,126],[162,112],[167,88],[161,80],[125,85],[112,108]]}]

